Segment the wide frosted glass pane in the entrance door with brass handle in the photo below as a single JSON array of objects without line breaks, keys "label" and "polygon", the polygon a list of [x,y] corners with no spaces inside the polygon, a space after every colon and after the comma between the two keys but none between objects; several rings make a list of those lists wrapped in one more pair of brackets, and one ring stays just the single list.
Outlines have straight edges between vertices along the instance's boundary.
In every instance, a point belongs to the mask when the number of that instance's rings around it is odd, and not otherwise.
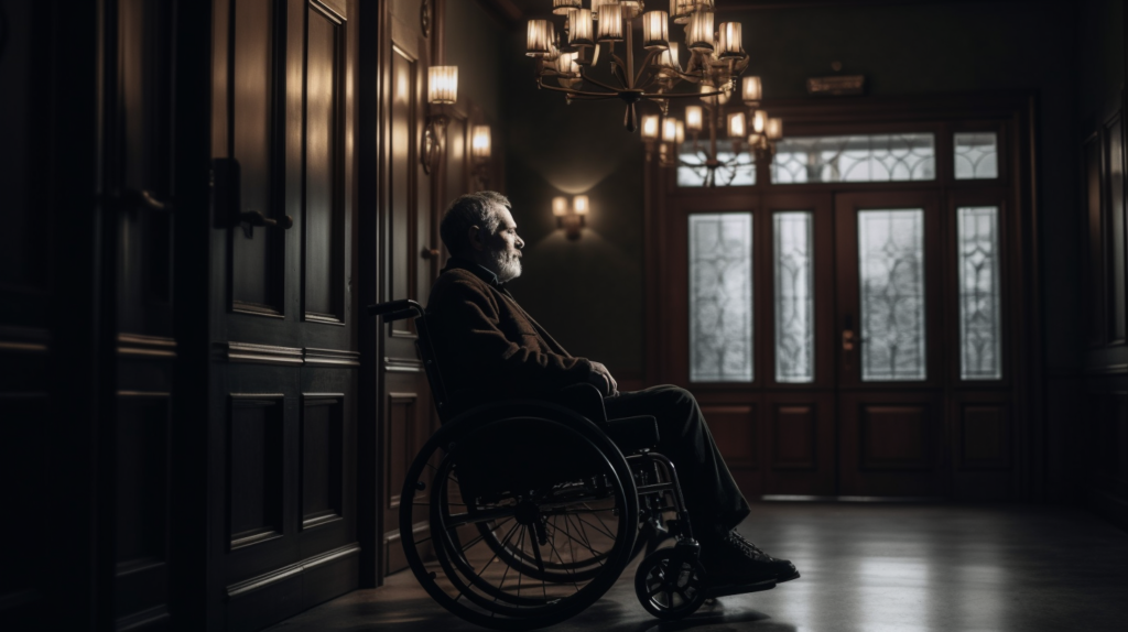
[{"label": "wide frosted glass pane in the entrance door with brass handle", "polygon": [[924,211],[857,212],[862,381],[926,379]]}]

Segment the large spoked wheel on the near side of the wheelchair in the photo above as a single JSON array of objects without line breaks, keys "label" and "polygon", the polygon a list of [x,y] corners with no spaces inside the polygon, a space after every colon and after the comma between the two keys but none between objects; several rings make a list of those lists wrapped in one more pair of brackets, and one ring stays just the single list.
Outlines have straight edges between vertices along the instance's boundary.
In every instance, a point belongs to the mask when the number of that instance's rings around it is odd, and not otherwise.
[{"label": "large spoked wheel on the near side of the wheelchair", "polygon": [[544,402],[448,422],[408,470],[399,533],[415,577],[443,607],[495,630],[564,621],[626,568],[638,499],[594,424]]}]

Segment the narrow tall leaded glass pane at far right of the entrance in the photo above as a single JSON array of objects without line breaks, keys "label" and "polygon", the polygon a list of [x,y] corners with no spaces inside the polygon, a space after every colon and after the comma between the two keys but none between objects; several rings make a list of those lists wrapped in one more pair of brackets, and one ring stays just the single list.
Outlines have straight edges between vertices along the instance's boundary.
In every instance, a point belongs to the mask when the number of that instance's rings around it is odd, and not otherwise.
[{"label": "narrow tall leaded glass pane at far right of the entrance", "polygon": [[957,208],[960,266],[960,379],[1003,379],[998,207]]}]

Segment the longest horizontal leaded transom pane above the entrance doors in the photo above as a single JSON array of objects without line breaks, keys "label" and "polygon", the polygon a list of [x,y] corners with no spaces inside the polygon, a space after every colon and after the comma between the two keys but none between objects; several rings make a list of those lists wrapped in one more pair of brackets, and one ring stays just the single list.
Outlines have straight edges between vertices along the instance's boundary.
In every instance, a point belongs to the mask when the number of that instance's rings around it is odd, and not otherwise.
[{"label": "longest horizontal leaded transom pane above the entrance doors", "polygon": [[926,133],[788,137],[772,162],[777,185],[935,179],[936,142]]}]

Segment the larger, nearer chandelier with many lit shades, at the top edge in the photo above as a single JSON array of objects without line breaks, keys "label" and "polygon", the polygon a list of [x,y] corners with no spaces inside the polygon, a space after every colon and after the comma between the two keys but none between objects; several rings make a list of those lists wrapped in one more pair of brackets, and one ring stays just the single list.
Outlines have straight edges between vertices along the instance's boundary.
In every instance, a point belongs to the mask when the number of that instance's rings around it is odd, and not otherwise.
[{"label": "larger, nearer chandelier with many lit shades, at the top edge", "polygon": [[[642,0],[553,0],[553,14],[564,18],[561,29],[548,19],[529,20],[527,55],[537,60],[537,86],[564,92],[573,100],[622,99],[624,125],[638,128],[636,104],[650,100],[662,114],[670,99],[728,96],[748,66],[740,23],[714,29],[714,0],[670,0],[669,11],[645,11]],[[635,59],[634,28],[642,19],[645,56]],[[685,25],[689,59],[682,68],[677,42],[670,41],[670,20]],[[616,48],[622,44],[622,47]],[[600,56],[606,77],[594,77]],[[671,92],[682,81],[699,91]]]}]

